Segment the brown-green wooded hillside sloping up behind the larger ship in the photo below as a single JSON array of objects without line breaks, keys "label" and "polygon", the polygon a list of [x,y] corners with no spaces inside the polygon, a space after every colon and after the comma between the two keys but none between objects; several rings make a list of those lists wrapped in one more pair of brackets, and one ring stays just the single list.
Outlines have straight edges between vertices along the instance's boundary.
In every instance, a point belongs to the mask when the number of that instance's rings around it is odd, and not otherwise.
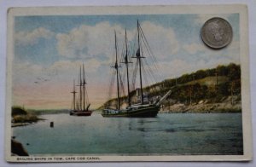
[{"label": "brown-green wooded hillside sloping up behind the larger ship", "polygon": [[[160,83],[155,83],[143,89],[148,93],[149,99],[158,95],[165,95],[172,88],[172,95],[166,101],[174,100],[188,104],[199,101],[219,102],[230,95],[241,96],[241,69],[240,65],[230,63],[230,65],[219,65],[212,69],[202,69],[192,73],[186,73],[179,78],[168,78]],[[131,92],[132,99],[136,99],[135,90]],[[114,103],[116,99],[107,101]],[[121,98],[125,103],[126,97]]]}]

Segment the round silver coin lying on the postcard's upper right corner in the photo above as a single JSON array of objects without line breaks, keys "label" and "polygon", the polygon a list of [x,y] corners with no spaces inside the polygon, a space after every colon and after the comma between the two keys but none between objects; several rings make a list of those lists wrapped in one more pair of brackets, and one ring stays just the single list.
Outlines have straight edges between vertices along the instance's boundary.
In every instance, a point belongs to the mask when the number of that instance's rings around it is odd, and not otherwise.
[{"label": "round silver coin lying on the postcard's upper right corner", "polygon": [[213,17],[201,28],[201,38],[207,46],[221,49],[227,46],[233,37],[232,27],[227,20]]}]

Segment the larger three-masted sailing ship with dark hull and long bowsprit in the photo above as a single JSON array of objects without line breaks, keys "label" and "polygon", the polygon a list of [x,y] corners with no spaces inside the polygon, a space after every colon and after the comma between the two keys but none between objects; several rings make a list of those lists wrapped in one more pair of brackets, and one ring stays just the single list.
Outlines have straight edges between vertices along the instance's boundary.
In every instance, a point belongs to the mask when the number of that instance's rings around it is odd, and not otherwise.
[{"label": "larger three-masted sailing ship with dark hull and long bowsprit", "polygon": [[128,54],[127,54],[127,37],[126,37],[126,30],[125,30],[125,60],[124,64],[126,67],[126,80],[127,80],[127,103],[128,107],[125,107],[125,109],[120,108],[120,90],[119,90],[119,59],[118,59],[118,53],[117,53],[117,40],[116,40],[116,32],[114,32],[114,41],[115,41],[115,63],[114,66],[112,66],[116,71],[116,85],[117,85],[117,105],[116,108],[105,108],[102,110],[102,117],[130,117],[130,118],[154,118],[160,111],[160,105],[163,101],[166,100],[167,96],[172,93],[171,90],[169,90],[166,95],[163,95],[161,98],[158,98],[156,101],[149,103],[146,101],[146,94],[143,93],[143,76],[142,76],[142,59],[145,58],[142,53],[141,49],[141,36],[144,37],[143,30],[137,21],[137,51],[134,57],[137,59],[137,64],[139,67],[139,80],[140,80],[140,88],[138,90],[139,95],[139,103],[138,104],[131,104],[131,92],[129,87],[129,70],[128,70],[128,64],[131,63],[128,60]]}]

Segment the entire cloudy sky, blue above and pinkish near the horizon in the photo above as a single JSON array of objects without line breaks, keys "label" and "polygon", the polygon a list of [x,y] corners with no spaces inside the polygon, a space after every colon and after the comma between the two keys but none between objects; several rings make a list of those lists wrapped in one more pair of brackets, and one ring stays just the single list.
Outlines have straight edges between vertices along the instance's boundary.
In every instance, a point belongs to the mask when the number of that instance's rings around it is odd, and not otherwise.
[{"label": "entire cloudy sky, blue above and pinkish near the horizon", "polygon": [[[201,41],[201,26],[214,16],[228,20],[233,29],[224,49],[210,49]],[[84,63],[91,108],[100,107],[108,98],[114,31],[120,55],[125,29],[129,46],[136,41],[137,20],[160,67],[154,82],[240,63],[239,14],[15,16],[13,105],[71,108],[73,79],[77,82]]]}]

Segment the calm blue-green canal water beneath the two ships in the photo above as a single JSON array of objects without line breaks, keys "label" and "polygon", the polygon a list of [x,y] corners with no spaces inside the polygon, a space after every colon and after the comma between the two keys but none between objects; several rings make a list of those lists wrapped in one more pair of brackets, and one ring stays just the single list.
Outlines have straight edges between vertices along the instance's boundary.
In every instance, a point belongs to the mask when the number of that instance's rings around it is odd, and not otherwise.
[{"label": "calm blue-green canal water beneath the two ships", "polygon": [[[159,113],[157,118],[43,115],[13,128],[30,155],[242,154],[241,113]],[[54,128],[49,123],[54,122]]]}]

